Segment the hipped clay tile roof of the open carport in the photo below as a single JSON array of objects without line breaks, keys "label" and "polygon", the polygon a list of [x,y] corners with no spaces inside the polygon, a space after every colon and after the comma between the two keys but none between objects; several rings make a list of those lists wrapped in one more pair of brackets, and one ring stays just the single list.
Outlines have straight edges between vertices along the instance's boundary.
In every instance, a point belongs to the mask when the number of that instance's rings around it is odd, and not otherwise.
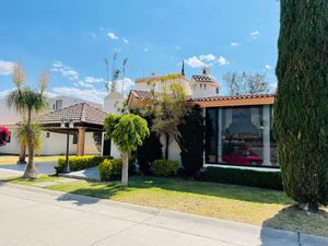
[{"label": "hipped clay tile roof of the open carport", "polygon": [[87,103],[80,103],[42,115],[38,119],[38,122],[58,124],[62,121],[62,118],[66,118],[72,119],[73,122],[104,125],[106,115],[107,114],[105,112],[93,107]]}]

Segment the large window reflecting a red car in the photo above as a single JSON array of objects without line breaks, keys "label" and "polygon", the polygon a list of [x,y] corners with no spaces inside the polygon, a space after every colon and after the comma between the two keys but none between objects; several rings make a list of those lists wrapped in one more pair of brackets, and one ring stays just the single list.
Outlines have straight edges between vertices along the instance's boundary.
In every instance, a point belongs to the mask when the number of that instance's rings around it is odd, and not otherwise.
[{"label": "large window reflecting a red car", "polygon": [[207,163],[279,166],[272,125],[272,106],[208,108]]}]

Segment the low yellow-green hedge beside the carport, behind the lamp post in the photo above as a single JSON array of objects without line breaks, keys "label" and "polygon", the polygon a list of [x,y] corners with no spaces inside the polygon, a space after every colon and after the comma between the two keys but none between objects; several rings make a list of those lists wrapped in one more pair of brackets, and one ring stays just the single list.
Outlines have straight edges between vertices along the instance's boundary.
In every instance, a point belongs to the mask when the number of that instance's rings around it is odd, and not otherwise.
[{"label": "low yellow-green hedge beside the carport, behind the lamp post", "polygon": [[[70,171],[74,172],[74,171],[97,166],[104,160],[110,160],[110,159],[113,157],[112,156],[70,156],[69,157]],[[66,162],[66,157],[58,159],[57,166],[55,166],[57,173],[63,172],[65,162]]]}]

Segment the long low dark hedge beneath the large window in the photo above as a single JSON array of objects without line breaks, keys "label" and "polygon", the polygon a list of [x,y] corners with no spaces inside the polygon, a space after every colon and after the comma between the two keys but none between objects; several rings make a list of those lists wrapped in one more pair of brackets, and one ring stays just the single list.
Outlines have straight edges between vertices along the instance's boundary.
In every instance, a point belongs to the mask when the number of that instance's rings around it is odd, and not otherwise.
[{"label": "long low dark hedge beneath the large window", "polygon": [[200,179],[203,181],[255,186],[278,190],[283,189],[280,172],[259,172],[211,166],[206,168]]}]

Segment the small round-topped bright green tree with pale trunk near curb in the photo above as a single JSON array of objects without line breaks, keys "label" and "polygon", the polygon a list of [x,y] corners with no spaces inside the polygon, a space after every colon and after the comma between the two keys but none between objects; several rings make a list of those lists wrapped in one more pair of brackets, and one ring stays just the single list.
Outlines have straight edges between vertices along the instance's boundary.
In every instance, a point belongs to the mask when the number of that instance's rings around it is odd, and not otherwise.
[{"label": "small round-topped bright green tree with pale trunk near curb", "polygon": [[104,129],[106,139],[112,139],[122,154],[121,184],[128,186],[129,153],[136,151],[150,134],[147,120],[138,115],[108,115]]}]

